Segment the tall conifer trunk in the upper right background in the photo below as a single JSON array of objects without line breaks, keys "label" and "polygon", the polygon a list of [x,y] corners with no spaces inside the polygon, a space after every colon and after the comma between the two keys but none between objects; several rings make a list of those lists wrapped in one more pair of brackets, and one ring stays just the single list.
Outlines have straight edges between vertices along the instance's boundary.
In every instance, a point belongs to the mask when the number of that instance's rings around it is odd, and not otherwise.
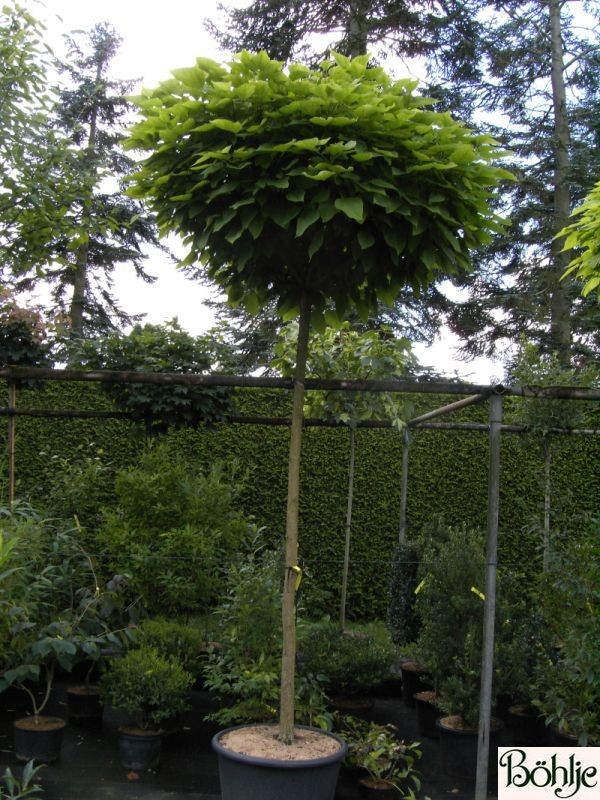
[{"label": "tall conifer trunk in the upper right background", "polygon": [[[564,78],[561,6],[562,2],[560,0],[549,0],[548,10],[552,42],[552,102],[554,108],[554,235],[565,227],[571,210],[568,183],[570,131]],[[561,278],[569,265],[570,257],[568,253],[561,252],[562,246],[561,239],[553,240],[553,275],[550,282],[550,336],[552,347],[558,355],[559,362],[566,368],[571,363],[571,303],[568,290],[569,279],[561,280]]]}]

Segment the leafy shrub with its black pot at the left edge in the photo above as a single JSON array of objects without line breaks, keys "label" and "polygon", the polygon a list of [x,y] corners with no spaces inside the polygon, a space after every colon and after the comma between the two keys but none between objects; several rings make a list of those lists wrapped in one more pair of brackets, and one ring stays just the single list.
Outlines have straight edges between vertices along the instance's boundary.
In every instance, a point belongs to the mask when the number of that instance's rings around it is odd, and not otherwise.
[{"label": "leafy shrub with its black pot at the left edge", "polygon": [[54,761],[66,722],[43,712],[57,668],[70,672],[104,640],[93,622],[102,593],[76,530],[35,513],[26,522],[9,520],[6,528],[14,572],[2,593],[9,623],[0,691],[18,686],[30,701],[31,716],[14,723],[17,758]]}]

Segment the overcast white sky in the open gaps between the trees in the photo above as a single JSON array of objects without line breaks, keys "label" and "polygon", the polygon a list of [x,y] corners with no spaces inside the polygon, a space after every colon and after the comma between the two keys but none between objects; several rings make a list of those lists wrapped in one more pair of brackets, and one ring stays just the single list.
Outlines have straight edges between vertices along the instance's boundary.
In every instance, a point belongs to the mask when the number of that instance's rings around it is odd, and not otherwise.
[{"label": "overcast white sky in the open gaps between the trees", "polygon": [[[247,1],[227,0],[227,4],[244,6]],[[218,18],[217,0],[46,0],[44,5],[32,5],[32,10],[45,19],[50,43],[59,53],[62,34],[88,30],[97,22],[110,22],[115,27],[123,40],[113,61],[116,78],[139,78],[142,85],[152,87],[166,80],[170,70],[193,64],[197,56],[227,58],[204,30],[206,18]],[[117,277],[116,291],[129,313],[146,313],[146,320],[155,323],[178,317],[182,327],[193,334],[210,327],[212,317],[204,307],[205,288],[184,278],[160,253],[149,258],[147,267],[159,276],[152,286],[137,280],[127,267]],[[455,344],[446,335],[431,349],[415,350],[423,364],[446,374],[456,372],[477,383],[501,378],[499,364],[485,359],[457,361]]]}]

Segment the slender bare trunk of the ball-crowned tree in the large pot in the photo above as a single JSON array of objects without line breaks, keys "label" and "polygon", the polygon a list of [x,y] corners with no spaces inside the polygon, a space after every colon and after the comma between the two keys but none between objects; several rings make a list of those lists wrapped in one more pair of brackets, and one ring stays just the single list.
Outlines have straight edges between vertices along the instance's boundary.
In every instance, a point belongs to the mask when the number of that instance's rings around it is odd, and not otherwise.
[{"label": "slender bare trunk of the ball-crowned tree in the large pot", "polygon": [[298,567],[298,512],[300,505],[300,451],[304,418],[304,379],[310,328],[310,305],[307,297],[300,303],[294,394],[290,429],[288,495],[285,527],[285,571],[283,576],[283,652],[281,659],[281,697],[279,739],[285,744],[294,741],[294,700],[296,667],[296,579]]}]

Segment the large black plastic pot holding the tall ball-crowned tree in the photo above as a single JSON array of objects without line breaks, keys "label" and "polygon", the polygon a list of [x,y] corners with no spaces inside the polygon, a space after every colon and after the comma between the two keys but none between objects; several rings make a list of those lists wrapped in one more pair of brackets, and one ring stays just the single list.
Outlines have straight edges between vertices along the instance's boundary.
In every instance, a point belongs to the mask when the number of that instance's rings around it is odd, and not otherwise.
[{"label": "large black plastic pot holding the tall ball-crowned tree", "polygon": [[316,728],[297,725],[296,728],[315,730],[340,744],[332,755],[307,761],[280,761],[236,753],[223,747],[219,739],[229,731],[253,727],[238,725],[220,731],[212,739],[219,761],[222,800],[333,800],[340,763],[348,751],[338,736]]}]

